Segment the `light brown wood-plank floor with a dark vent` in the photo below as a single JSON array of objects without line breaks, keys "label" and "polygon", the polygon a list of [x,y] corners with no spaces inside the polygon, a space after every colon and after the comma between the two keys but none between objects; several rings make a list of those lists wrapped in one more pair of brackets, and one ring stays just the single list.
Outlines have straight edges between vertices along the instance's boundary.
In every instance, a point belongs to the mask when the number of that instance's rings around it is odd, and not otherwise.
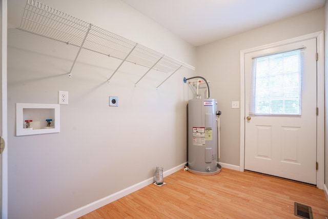
[{"label": "light brown wood-plank floor with a dark vent", "polygon": [[213,176],[180,170],[79,219],[98,218],[301,218],[294,202],[328,217],[324,191],[315,186],[254,172],[222,168]]}]

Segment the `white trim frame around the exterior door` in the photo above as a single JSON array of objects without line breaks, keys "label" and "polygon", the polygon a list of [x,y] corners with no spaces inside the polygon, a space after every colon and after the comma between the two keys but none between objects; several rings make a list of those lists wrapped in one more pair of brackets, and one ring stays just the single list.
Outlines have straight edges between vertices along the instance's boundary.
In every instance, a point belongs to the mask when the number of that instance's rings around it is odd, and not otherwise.
[{"label": "white trim frame around the exterior door", "polygon": [[[323,31],[306,34],[284,41],[267,44],[264,46],[254,47],[240,51],[240,163],[239,171],[244,171],[245,159],[245,60],[244,55],[247,53],[270,49],[277,46],[291,44],[294,42],[304,41],[306,39],[317,38],[317,107],[319,114],[317,116],[317,183],[319,189],[323,189],[324,185],[324,38]],[[315,110],[315,109],[314,109]],[[315,164],[313,164],[315,165]]]}]

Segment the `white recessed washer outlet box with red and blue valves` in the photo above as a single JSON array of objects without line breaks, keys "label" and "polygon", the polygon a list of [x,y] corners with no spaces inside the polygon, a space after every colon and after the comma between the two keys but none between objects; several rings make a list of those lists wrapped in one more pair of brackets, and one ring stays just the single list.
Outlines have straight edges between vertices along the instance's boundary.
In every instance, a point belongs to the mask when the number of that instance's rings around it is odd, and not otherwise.
[{"label": "white recessed washer outlet box with red and blue valves", "polygon": [[60,132],[59,104],[16,103],[16,136]]}]

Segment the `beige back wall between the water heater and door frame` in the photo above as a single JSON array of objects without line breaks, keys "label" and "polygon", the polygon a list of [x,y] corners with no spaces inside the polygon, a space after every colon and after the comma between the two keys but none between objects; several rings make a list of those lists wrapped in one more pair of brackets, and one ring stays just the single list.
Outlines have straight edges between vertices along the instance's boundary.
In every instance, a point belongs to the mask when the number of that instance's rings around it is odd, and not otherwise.
[{"label": "beige back wall between the water heater and door frame", "polygon": [[248,32],[197,47],[196,72],[210,80],[211,97],[217,98],[220,116],[220,162],[239,166],[240,50],[262,46],[324,29],[324,9],[304,13]]}]

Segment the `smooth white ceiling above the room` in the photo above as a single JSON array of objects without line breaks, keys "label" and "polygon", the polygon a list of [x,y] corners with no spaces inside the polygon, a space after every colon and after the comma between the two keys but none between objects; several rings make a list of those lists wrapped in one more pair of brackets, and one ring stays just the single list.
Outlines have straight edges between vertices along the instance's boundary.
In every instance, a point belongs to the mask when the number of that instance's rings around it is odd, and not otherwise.
[{"label": "smooth white ceiling above the room", "polygon": [[194,46],[324,6],[325,0],[122,0]]}]

